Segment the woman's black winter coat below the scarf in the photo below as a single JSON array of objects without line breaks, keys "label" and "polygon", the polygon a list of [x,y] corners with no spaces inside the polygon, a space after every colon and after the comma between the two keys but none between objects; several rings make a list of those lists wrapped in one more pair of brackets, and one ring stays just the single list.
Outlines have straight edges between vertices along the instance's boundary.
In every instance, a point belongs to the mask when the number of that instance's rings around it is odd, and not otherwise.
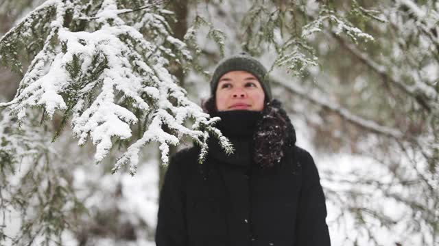
[{"label": "woman's black winter coat below the scarf", "polygon": [[[245,132],[245,129],[243,129]],[[327,246],[327,210],[311,155],[289,147],[267,169],[252,161],[248,136],[230,136],[235,154],[215,141],[176,153],[161,189],[157,246]]]}]

